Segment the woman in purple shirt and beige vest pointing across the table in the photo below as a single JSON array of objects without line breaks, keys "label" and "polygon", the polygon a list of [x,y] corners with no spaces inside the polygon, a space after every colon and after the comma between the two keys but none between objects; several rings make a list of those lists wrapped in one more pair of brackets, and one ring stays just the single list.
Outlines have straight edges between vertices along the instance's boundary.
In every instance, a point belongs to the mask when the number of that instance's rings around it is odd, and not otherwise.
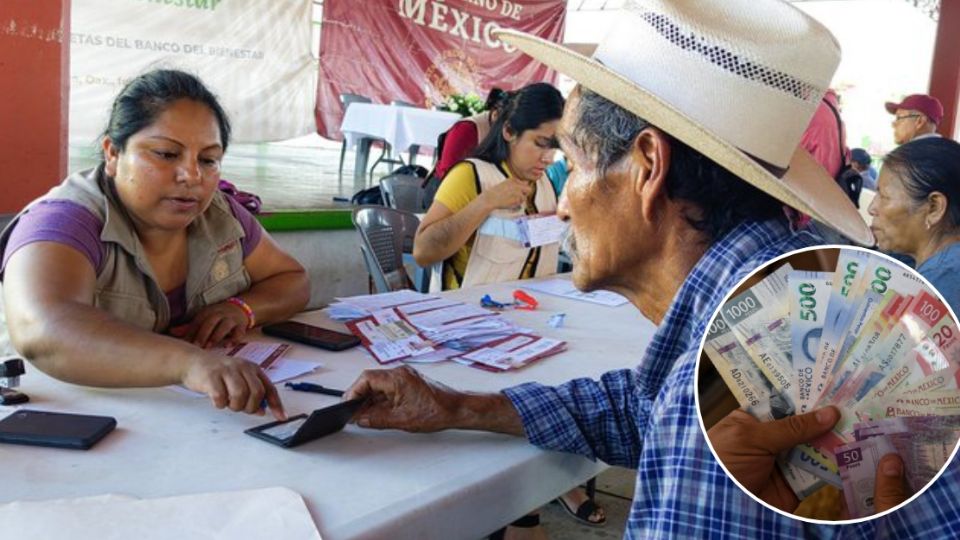
[{"label": "woman in purple shirt and beige vest pointing across the table", "polygon": [[[217,189],[230,124],[180,71],[132,80],[103,159],[30,203],[0,237],[8,329],[75,384],[183,384],[218,408],[282,418],[259,366],[211,347],[302,310],[303,267]],[[165,335],[175,334],[178,337]]]}]

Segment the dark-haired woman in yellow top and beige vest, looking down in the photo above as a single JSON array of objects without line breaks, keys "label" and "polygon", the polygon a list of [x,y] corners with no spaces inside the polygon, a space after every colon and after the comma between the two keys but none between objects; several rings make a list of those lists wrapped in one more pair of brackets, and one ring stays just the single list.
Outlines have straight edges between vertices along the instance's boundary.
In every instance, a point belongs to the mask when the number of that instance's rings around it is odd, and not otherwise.
[{"label": "dark-haired woman in yellow top and beige vest, looking down", "polygon": [[[545,171],[553,163],[562,115],[556,88],[525,86],[504,106],[474,157],[444,177],[413,246],[421,266],[444,261],[444,289],[556,272],[556,245],[523,248],[509,229],[514,217],[556,211]],[[481,227],[499,234],[477,234]]]}]

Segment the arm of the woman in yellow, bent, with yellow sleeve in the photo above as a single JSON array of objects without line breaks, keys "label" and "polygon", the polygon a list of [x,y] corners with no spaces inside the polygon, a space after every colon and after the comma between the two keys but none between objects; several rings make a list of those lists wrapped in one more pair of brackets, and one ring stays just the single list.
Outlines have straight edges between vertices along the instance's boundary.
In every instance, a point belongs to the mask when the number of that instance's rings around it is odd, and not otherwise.
[{"label": "arm of the woman in yellow, bent, with yellow sleeve", "polygon": [[440,184],[437,197],[420,222],[413,240],[413,258],[418,265],[430,266],[450,258],[467,243],[491,212],[519,207],[533,191],[532,184],[508,178],[469,202],[461,202],[454,194],[471,190],[475,193],[470,187],[473,182],[473,170],[464,164],[455,167]]}]

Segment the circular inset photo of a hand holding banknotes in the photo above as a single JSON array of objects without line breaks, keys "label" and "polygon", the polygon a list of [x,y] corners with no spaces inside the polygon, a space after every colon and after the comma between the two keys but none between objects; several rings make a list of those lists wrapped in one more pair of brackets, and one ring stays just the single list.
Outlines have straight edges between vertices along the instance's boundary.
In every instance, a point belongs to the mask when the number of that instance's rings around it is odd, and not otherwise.
[{"label": "circular inset photo of a hand holding banknotes", "polygon": [[960,436],[960,329],[915,270],[840,246],[789,253],[710,320],[697,409],[714,456],[768,507],[877,517],[925,490]]}]

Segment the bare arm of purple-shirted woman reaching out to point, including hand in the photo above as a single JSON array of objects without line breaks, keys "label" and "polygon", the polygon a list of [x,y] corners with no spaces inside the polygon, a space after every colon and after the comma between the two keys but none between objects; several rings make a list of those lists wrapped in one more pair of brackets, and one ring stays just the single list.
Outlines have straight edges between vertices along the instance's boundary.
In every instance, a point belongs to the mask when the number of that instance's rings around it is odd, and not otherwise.
[{"label": "bare arm of purple-shirted woman reaching out to point, including hand", "polygon": [[252,362],[205,351],[118,320],[93,306],[96,272],[77,249],[35,242],[4,269],[4,303],[13,345],[38,369],[71,383],[150,387],[182,383],[218,408],[261,413],[283,407]]}]

